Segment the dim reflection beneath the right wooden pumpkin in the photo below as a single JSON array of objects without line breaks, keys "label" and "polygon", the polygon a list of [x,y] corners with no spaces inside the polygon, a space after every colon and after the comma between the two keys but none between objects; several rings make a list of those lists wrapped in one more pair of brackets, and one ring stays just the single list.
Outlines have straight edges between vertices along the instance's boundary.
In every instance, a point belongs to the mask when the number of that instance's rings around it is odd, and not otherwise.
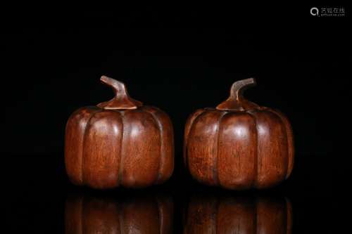
[{"label": "dim reflection beneath the right wooden pumpkin", "polygon": [[192,197],[184,215],[184,234],[289,234],[291,203],[285,198]]}]

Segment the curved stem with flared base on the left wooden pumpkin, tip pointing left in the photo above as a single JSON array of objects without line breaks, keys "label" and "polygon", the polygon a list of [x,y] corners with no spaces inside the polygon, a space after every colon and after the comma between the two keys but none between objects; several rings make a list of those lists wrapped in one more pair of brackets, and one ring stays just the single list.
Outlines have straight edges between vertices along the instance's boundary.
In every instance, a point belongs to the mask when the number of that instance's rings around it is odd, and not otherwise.
[{"label": "curved stem with flared base on the left wooden pumpkin, tip pointing left", "polygon": [[110,77],[102,76],[100,78],[101,82],[111,86],[115,92],[115,97],[107,102],[99,103],[97,106],[99,108],[111,109],[111,110],[123,110],[123,109],[137,109],[142,106],[139,100],[134,100],[130,98],[127,93],[125,84],[119,82],[118,80],[112,79]]}]

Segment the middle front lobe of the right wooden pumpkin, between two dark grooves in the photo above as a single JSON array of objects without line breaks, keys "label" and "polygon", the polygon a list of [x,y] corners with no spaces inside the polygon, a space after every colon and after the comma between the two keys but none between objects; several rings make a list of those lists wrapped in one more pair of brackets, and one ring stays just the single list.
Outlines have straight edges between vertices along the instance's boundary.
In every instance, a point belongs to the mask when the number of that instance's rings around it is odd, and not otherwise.
[{"label": "middle front lobe of the right wooden pumpkin, between two dark grooves", "polygon": [[257,170],[255,119],[243,112],[227,112],[220,122],[218,141],[219,183],[226,188],[250,188]]}]

